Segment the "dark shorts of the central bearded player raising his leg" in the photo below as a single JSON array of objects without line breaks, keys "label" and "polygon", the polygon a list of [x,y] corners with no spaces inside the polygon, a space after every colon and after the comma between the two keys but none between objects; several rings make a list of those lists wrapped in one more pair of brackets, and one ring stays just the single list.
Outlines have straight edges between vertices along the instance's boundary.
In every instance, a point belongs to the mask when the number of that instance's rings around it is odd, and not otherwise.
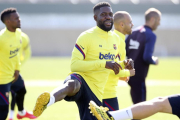
[{"label": "dark shorts of the central bearded player raising his leg", "polygon": [[97,105],[102,106],[102,103],[99,101],[99,99],[94,95],[94,93],[91,91],[85,80],[78,74],[71,74],[69,75],[64,83],[66,83],[68,80],[78,80],[81,84],[81,88],[78,91],[78,93],[71,97],[65,97],[64,99],[66,101],[75,101],[80,114],[81,120],[97,120],[89,110],[89,102],[90,100],[93,100]]}]

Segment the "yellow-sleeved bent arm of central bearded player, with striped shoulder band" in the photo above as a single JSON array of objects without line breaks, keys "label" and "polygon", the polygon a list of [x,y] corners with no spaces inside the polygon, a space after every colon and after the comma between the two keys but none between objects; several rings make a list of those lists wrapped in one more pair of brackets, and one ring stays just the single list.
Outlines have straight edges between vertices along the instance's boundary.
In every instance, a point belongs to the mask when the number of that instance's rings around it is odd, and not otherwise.
[{"label": "yellow-sleeved bent arm of central bearded player, with striped shoulder band", "polygon": [[89,41],[87,35],[81,35],[73,49],[71,58],[72,72],[86,72],[97,68],[105,68],[106,60],[85,61],[87,51],[89,49]]}]

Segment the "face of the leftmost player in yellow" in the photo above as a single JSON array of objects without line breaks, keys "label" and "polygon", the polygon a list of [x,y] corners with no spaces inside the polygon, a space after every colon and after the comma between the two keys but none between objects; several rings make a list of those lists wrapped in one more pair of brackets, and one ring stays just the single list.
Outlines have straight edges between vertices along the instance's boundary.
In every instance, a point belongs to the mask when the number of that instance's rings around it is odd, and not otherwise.
[{"label": "face of the leftmost player in yellow", "polygon": [[21,21],[17,12],[10,14],[9,27],[13,29],[21,28]]}]

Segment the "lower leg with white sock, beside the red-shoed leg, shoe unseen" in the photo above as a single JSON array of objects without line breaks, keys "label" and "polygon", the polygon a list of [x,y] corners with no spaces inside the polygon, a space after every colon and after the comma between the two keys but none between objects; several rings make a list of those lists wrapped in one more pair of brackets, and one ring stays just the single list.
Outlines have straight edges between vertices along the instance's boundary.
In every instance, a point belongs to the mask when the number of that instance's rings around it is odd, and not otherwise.
[{"label": "lower leg with white sock, beside the red-shoed leg, shoe unseen", "polygon": [[15,103],[16,103],[16,93],[11,90],[11,110],[9,111],[9,120],[13,120],[14,118],[14,108],[15,108]]}]

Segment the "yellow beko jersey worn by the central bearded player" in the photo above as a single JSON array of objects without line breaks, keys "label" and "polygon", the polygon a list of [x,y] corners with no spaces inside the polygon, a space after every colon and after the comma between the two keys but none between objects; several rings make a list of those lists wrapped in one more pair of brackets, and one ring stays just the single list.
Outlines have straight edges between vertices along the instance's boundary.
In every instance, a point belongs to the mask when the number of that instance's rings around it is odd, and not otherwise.
[{"label": "yellow beko jersey worn by the central bearded player", "polygon": [[100,101],[111,71],[105,68],[106,61],[115,59],[118,40],[119,37],[112,31],[106,32],[96,26],[78,37],[72,52],[71,71],[85,79]]}]

